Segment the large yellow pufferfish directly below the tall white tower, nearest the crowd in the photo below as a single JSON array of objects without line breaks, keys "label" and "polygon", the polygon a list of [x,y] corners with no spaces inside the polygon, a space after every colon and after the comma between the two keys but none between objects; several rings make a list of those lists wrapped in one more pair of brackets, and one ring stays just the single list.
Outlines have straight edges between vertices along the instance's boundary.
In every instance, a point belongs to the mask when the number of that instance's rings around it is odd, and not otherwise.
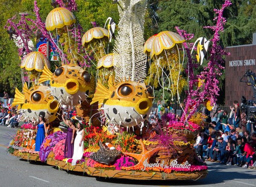
[{"label": "large yellow pufferfish directly below the tall white tower, nearest the crowd", "polygon": [[139,82],[120,82],[113,84],[109,79],[109,89],[100,81],[92,103],[99,102],[99,110],[106,116],[106,121],[112,127],[133,127],[144,122],[152,107],[153,89]]}]

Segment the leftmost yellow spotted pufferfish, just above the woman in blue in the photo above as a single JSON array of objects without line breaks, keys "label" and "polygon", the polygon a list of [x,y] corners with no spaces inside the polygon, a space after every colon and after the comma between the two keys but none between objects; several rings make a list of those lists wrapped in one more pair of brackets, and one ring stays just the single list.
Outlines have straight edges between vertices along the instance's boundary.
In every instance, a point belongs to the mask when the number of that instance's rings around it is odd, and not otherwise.
[{"label": "leftmost yellow spotted pufferfish, just above the woman in blue", "polygon": [[24,120],[38,120],[39,114],[41,114],[46,122],[50,123],[58,117],[59,103],[53,96],[50,96],[48,88],[47,86],[34,85],[28,89],[26,83],[22,93],[16,88],[12,105],[20,105]]}]

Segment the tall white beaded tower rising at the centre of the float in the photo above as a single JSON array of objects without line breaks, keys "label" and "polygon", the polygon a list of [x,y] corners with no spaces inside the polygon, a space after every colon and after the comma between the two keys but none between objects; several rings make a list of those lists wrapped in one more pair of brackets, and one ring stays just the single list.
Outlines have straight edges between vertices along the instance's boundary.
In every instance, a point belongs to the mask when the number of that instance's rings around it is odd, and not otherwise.
[{"label": "tall white beaded tower rising at the centre of the float", "polygon": [[120,56],[114,61],[116,80],[141,81],[146,77],[144,46],[144,16],[147,0],[118,0],[120,20],[114,53]]}]

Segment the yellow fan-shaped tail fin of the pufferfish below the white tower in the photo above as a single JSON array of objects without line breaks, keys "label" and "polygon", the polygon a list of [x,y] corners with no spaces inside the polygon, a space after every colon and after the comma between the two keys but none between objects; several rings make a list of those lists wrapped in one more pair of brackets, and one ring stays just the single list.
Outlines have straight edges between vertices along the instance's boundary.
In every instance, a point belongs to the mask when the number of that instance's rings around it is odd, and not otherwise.
[{"label": "yellow fan-shaped tail fin of the pufferfish below the white tower", "polygon": [[92,98],[91,104],[94,102],[99,102],[101,106],[104,99],[109,98],[109,90],[105,88],[101,83],[100,80],[97,82],[96,92],[94,93],[94,97]]}]

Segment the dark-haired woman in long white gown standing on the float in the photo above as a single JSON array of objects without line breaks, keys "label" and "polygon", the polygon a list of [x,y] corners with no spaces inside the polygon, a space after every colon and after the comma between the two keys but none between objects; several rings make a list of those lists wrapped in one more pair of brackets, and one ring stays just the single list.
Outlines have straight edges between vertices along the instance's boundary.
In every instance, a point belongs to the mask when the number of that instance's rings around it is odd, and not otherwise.
[{"label": "dark-haired woman in long white gown standing on the float", "polygon": [[72,166],[76,165],[77,160],[82,159],[82,155],[84,152],[84,134],[85,130],[83,129],[82,123],[78,122],[77,123],[77,128],[72,128],[77,131],[77,136],[75,138],[74,142],[74,154],[72,157]]}]

